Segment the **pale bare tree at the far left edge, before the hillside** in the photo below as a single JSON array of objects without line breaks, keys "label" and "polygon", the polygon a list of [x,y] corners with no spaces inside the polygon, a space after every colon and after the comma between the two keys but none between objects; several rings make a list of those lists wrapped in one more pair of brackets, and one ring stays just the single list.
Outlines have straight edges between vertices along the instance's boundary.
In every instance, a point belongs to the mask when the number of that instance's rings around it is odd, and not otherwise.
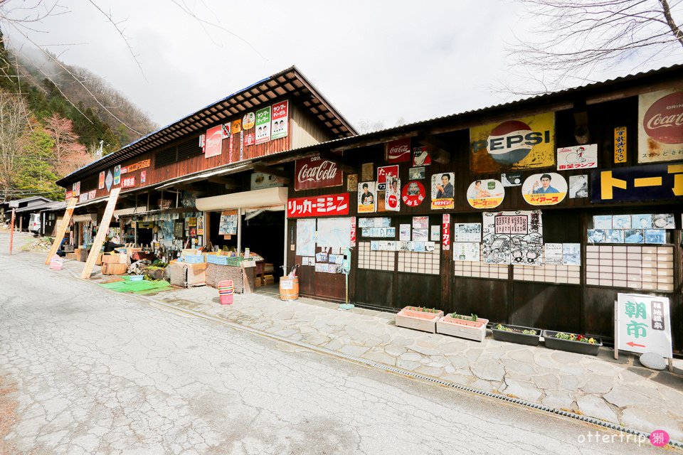
[{"label": "pale bare tree at the far left edge, before the hillside", "polygon": [[0,191],[13,188],[21,155],[21,138],[28,127],[28,107],[18,95],[0,91]]}]

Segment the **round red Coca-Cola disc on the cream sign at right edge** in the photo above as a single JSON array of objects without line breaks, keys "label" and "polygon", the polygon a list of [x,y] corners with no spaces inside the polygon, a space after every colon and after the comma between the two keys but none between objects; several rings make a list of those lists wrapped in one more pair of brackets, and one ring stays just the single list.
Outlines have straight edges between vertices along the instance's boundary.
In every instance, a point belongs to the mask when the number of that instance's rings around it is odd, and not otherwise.
[{"label": "round red Coca-Cola disc on the cream sign at right edge", "polygon": [[675,92],[652,103],[642,127],[649,137],[663,144],[683,143],[683,92]]}]

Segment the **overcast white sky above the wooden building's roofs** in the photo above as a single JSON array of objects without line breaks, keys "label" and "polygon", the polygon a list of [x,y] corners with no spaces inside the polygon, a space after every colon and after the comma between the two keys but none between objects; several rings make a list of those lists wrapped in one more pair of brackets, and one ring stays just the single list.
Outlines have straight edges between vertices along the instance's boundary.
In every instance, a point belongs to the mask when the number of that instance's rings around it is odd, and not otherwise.
[{"label": "overcast white sky above the wooden building's roofs", "polygon": [[[12,0],[19,2],[19,0]],[[529,33],[519,2],[93,0],[125,28],[125,41],[88,1],[68,2],[33,33],[71,65],[104,77],[163,126],[278,71],[297,65],[351,123],[393,127],[511,99],[520,89],[505,48]],[[182,4],[182,0],[176,0]],[[18,36],[11,30],[12,44]],[[53,44],[68,45],[53,45]],[[674,62],[625,62],[603,80]]]}]

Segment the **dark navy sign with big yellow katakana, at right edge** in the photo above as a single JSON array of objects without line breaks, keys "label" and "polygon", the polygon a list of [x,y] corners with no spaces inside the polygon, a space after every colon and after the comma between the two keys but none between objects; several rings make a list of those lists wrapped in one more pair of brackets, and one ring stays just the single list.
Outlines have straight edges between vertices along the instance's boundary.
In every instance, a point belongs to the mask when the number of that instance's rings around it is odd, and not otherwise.
[{"label": "dark navy sign with big yellow katakana, at right edge", "polygon": [[683,198],[683,163],[591,171],[591,202]]}]

